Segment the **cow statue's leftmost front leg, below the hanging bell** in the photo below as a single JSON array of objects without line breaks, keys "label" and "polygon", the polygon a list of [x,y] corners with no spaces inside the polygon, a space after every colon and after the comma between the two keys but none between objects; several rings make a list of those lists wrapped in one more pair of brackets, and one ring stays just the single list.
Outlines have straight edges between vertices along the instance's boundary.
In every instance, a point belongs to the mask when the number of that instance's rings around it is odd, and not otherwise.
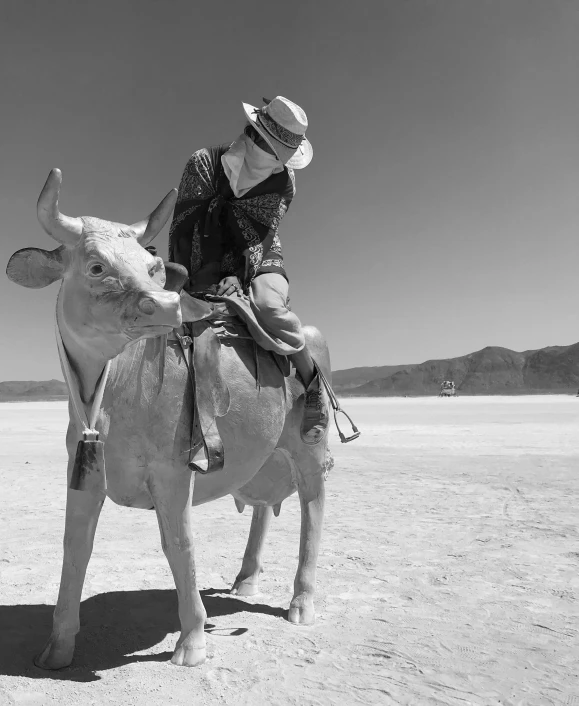
[{"label": "cow statue's leftmost front leg, below the hanging bell", "polygon": [[67,492],[62,576],[52,634],[34,660],[42,669],[61,669],[72,662],[75,638],[80,629],[82,586],[104,499],[104,493]]}]

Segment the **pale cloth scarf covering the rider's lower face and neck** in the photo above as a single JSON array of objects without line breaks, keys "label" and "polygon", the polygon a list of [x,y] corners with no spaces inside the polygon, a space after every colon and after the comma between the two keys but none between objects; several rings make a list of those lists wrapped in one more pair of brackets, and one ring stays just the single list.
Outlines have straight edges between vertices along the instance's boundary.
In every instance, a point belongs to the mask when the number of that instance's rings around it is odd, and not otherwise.
[{"label": "pale cloth scarf covering the rider's lower face and neck", "polygon": [[242,133],[221,157],[221,163],[237,198],[272,174],[283,171],[283,164],[279,159],[258,147],[245,133]]}]

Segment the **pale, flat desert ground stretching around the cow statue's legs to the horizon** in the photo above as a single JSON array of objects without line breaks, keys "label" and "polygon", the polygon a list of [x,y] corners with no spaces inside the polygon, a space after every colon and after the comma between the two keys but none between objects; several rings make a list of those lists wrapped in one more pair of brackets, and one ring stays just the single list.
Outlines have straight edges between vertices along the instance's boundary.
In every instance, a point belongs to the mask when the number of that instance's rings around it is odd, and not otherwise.
[{"label": "pale, flat desert ground stretching around the cow statue's legs to the horizon", "polygon": [[174,667],[153,512],[106,503],[72,666],[37,669],[60,578],[64,403],[0,405],[0,704],[579,704],[579,399],[349,399],[327,480],[317,623],[290,625],[294,496],[261,594],[230,596],[249,530],[194,510],[209,659]]}]

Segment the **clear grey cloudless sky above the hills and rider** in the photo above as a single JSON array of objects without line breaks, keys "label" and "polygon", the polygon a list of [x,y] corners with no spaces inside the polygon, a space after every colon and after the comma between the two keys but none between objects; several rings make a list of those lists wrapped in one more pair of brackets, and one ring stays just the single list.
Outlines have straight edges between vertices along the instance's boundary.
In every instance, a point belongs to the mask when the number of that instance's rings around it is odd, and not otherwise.
[{"label": "clear grey cloudless sky above the hills and rider", "polygon": [[[292,309],[332,367],[579,340],[574,0],[4,0],[0,261],[71,216],[132,223],[241,102],[308,115],[280,236]],[[168,227],[157,238],[166,256]],[[58,285],[0,276],[0,379],[62,379]]]}]

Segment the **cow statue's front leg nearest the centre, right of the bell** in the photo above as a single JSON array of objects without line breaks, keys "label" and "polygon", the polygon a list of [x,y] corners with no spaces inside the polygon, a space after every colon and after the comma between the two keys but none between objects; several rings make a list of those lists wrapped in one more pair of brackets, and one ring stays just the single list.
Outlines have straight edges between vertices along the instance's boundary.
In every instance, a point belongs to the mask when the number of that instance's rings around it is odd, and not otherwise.
[{"label": "cow statue's front leg nearest the centre, right of the bell", "polygon": [[191,500],[193,482],[191,472],[164,477],[151,484],[163,551],[171,567],[177,598],[181,636],[175,646],[171,662],[178,666],[194,667],[206,658],[205,620],[207,613],[197,588],[193,532],[191,527]]}]

